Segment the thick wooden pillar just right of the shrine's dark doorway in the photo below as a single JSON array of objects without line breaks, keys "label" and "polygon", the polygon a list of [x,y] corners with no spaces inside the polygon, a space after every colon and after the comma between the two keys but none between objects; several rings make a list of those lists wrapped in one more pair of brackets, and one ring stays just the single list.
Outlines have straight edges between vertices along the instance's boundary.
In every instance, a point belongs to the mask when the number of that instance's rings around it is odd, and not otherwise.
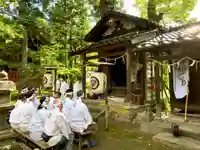
[{"label": "thick wooden pillar just right of the shrine's dark doorway", "polygon": [[131,73],[132,73],[132,49],[126,49],[126,100],[125,102],[132,103],[132,84],[131,84]]}]

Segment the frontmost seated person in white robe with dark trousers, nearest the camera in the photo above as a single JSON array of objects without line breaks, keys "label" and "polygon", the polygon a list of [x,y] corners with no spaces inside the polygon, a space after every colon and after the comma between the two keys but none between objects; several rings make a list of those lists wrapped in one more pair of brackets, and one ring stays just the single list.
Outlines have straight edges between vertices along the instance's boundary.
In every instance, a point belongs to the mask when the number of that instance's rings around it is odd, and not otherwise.
[{"label": "frontmost seated person in white robe with dark trousers, nearest the camera", "polygon": [[55,104],[47,117],[42,138],[49,146],[55,146],[55,150],[72,150],[74,134],[61,112],[62,104]]}]

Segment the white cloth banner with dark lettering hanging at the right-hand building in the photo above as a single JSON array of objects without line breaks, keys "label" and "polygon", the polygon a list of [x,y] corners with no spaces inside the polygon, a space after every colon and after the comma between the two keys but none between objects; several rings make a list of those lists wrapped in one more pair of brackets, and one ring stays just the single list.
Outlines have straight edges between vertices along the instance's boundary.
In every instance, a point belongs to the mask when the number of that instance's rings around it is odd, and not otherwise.
[{"label": "white cloth banner with dark lettering hanging at the right-hand building", "polygon": [[181,62],[178,66],[173,66],[173,87],[175,97],[181,99],[187,95],[189,82],[189,63]]}]

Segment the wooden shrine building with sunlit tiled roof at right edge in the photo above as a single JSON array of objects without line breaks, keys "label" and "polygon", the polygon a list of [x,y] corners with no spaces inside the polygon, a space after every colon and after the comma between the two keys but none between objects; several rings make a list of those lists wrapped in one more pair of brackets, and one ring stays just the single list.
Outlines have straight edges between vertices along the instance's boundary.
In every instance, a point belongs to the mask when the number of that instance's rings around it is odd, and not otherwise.
[{"label": "wooden shrine building with sunlit tiled roof at right edge", "polygon": [[[189,60],[189,94],[188,94],[188,112],[196,113],[200,112],[200,22],[193,24],[183,25],[176,28],[171,28],[168,32],[160,34],[155,38],[140,43],[137,45],[139,52],[151,53],[153,60],[168,62],[169,64],[175,64],[184,58]],[[159,63],[156,63],[159,68]],[[171,95],[171,107],[185,110],[186,97],[177,99],[174,94],[173,83],[176,82],[173,79],[173,67],[170,66],[170,95]],[[158,69],[159,70],[159,69]],[[155,74],[157,88],[157,98],[160,99],[160,77],[162,73],[157,71]],[[160,104],[160,101],[157,102]]]}]

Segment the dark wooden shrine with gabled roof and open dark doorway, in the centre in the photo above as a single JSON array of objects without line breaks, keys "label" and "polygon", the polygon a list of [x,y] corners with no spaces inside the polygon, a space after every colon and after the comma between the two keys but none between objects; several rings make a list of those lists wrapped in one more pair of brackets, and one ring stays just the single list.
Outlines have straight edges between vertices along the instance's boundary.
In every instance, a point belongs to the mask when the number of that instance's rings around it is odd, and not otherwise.
[{"label": "dark wooden shrine with gabled roof and open dark doorway, in the centre", "polygon": [[[91,59],[110,61],[115,65],[99,67],[99,71],[107,70],[108,88],[111,95],[123,96],[126,101],[143,105],[147,100],[147,63],[146,53],[135,53],[136,46],[148,41],[161,32],[161,26],[146,19],[120,12],[108,12],[96,26],[86,35],[89,46],[76,49],[71,56],[81,55],[83,86],[85,87],[85,64]],[[88,53],[97,52],[96,56]],[[142,67],[136,75],[135,86],[132,84],[134,63]],[[136,66],[137,68],[137,66]]]}]

